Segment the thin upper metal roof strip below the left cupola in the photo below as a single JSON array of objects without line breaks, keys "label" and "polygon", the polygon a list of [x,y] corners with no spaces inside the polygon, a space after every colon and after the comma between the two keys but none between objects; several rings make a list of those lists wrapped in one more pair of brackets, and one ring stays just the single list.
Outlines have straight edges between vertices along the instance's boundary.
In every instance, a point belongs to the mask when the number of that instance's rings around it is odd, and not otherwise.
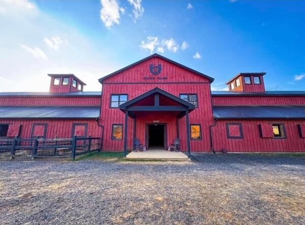
[{"label": "thin upper metal roof strip below the left cupola", "polygon": [[37,97],[37,96],[52,96],[52,97],[73,97],[73,96],[101,96],[101,92],[71,92],[71,93],[49,93],[49,92],[0,92],[1,96],[21,96],[21,97]]}]

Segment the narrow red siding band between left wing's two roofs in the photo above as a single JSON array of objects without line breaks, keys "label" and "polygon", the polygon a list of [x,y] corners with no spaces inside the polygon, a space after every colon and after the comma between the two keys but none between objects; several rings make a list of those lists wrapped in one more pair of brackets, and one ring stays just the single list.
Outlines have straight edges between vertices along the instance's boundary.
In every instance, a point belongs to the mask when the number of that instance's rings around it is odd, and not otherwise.
[{"label": "narrow red siding band between left wing's two roofs", "polygon": [[1,97],[0,106],[100,106],[101,97]]}]

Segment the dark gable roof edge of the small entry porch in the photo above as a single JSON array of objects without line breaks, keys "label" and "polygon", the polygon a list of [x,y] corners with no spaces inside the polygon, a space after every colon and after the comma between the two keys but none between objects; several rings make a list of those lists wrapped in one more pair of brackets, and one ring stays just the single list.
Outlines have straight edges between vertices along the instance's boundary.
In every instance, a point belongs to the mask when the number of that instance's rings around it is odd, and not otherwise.
[{"label": "dark gable roof edge of the small entry porch", "polygon": [[176,102],[180,103],[181,105],[184,105],[184,106],[188,107],[189,109],[195,109],[195,105],[193,105],[192,103],[187,102],[187,101],[185,101],[185,100],[183,100],[183,99],[181,99],[181,98],[179,98],[175,95],[172,95],[172,94],[170,94],[170,93],[168,93],[168,92],[166,92],[166,91],[164,91],[160,88],[151,89],[150,91],[145,92],[144,94],[141,94],[141,95],[139,95],[139,96],[123,103],[123,104],[121,104],[119,106],[119,109],[124,110],[124,109],[126,109],[126,107],[128,107],[128,106],[130,106],[130,105],[132,105],[132,104],[134,104],[134,103],[136,103],[136,102],[138,102],[138,101],[140,101],[144,98],[147,98],[148,96],[153,95],[155,93],[159,93],[161,95],[164,95],[164,96],[172,99],[173,101],[176,101]]}]

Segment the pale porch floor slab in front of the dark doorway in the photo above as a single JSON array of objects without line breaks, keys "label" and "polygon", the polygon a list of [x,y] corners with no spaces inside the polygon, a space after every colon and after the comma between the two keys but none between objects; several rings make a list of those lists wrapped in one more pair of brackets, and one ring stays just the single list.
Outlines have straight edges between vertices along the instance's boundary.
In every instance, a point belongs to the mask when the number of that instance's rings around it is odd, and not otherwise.
[{"label": "pale porch floor slab in front of the dark doorway", "polygon": [[189,160],[182,152],[170,152],[165,150],[147,150],[143,152],[131,152],[128,159],[164,159],[164,160]]}]

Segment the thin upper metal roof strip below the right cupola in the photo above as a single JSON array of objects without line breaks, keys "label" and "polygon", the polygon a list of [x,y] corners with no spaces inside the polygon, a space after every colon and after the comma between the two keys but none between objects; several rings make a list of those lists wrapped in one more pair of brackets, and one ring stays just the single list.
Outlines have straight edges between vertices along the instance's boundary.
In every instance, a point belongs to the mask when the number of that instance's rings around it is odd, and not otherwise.
[{"label": "thin upper metal roof strip below the right cupola", "polygon": [[233,92],[233,91],[212,91],[212,96],[300,96],[305,95],[305,91],[265,91],[259,93]]}]

